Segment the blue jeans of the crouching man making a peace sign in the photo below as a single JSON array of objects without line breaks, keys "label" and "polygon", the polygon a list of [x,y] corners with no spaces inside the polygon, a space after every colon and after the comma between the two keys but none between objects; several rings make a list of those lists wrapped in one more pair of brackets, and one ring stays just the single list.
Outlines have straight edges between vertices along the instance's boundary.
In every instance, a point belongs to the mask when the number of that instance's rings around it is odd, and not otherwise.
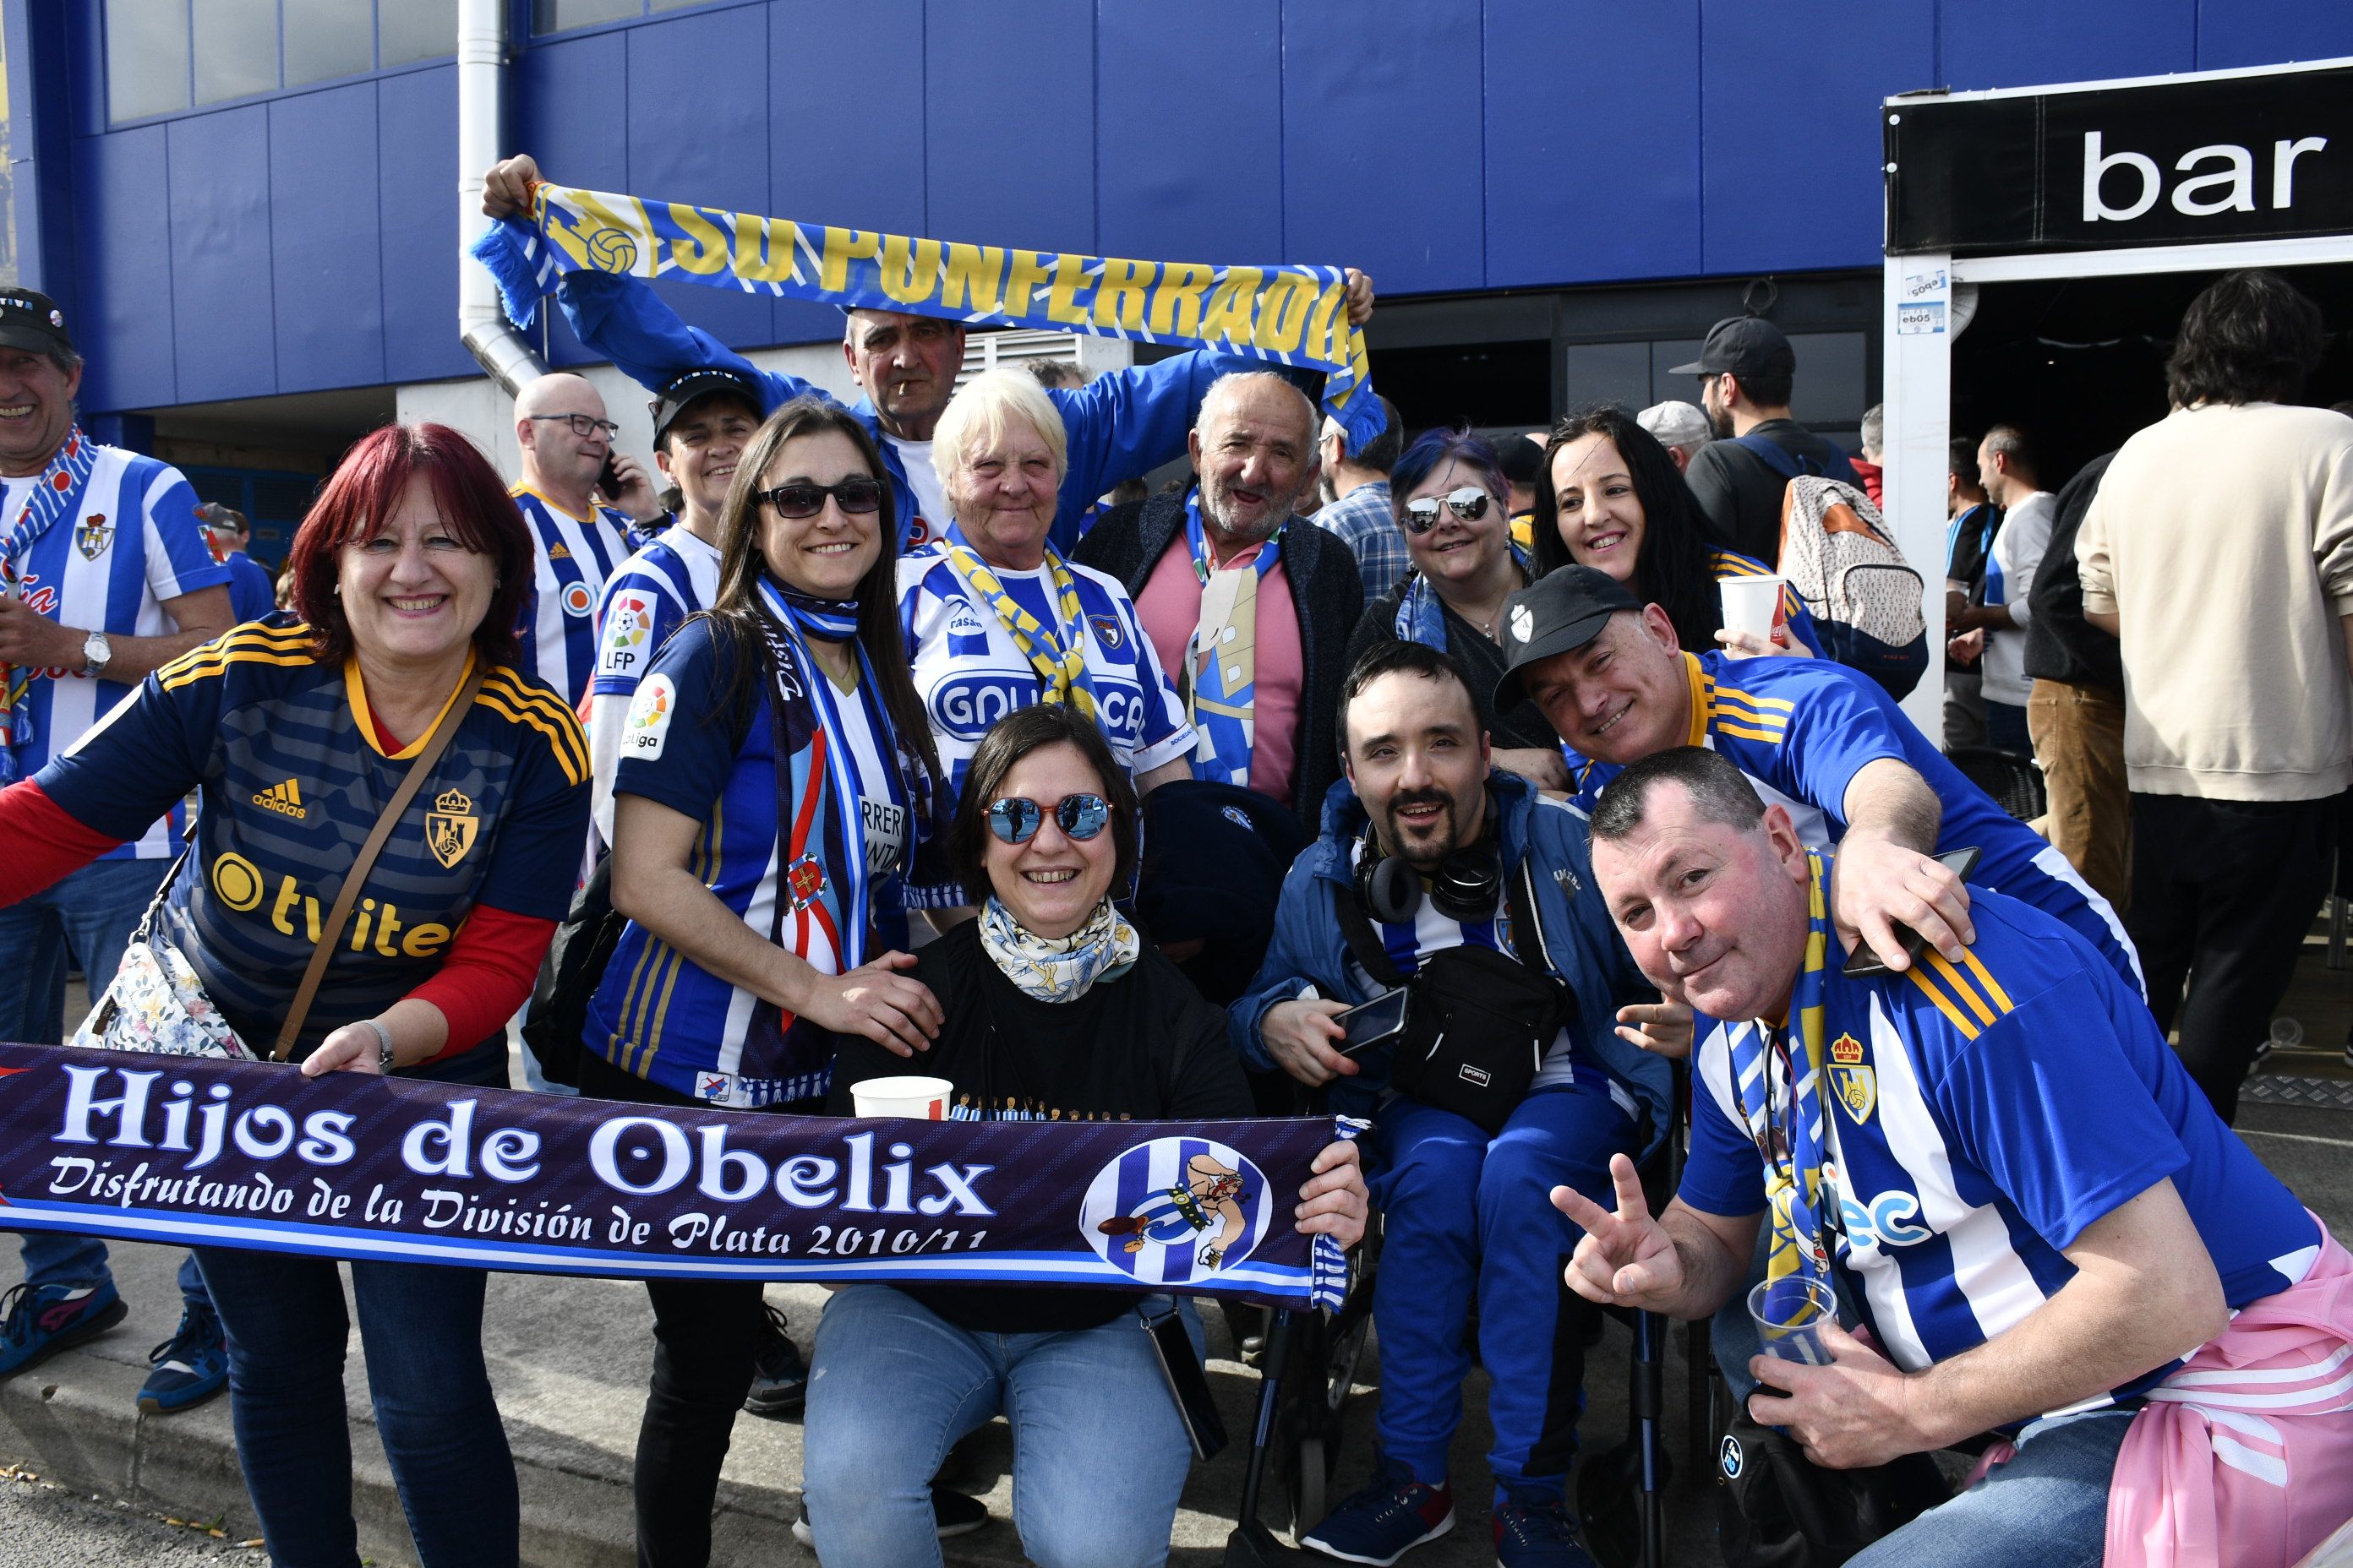
[{"label": "blue jeans of the crouching man making a peace sign", "polygon": [[2108,1549],[2108,1481],[2132,1410],[2038,1420],[2019,1455],[1847,1559],[1849,1568],[2097,1568]]}]

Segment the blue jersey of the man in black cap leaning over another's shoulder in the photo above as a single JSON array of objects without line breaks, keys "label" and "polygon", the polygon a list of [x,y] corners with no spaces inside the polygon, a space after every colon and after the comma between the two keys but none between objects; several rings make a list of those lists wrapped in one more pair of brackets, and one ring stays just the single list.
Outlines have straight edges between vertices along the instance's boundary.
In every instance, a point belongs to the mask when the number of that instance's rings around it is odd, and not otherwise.
[{"label": "blue jersey of the man in black cap leaning over another's shoulder", "polygon": [[[2099,947],[2115,973],[2146,990],[2141,959],[2108,900],[2092,891],[2066,856],[1944,759],[1871,679],[1828,658],[1725,658],[1685,654],[1692,733],[1682,745],[1722,752],[1767,806],[1781,806],[1807,849],[1835,849],[1847,835],[1847,785],[1880,757],[1911,766],[1944,804],[1937,853],[1977,849],[1972,889],[2021,898]],[[1577,778],[1577,806],[1593,811],[1602,785],[1619,776],[1562,745]]]}]

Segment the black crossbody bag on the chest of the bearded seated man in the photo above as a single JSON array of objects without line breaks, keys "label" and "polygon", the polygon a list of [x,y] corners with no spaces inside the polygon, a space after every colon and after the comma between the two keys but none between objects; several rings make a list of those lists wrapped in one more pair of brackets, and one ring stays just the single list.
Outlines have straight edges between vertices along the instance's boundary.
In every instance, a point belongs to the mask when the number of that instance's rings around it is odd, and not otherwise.
[{"label": "black crossbody bag on the chest of the bearded seated man", "polygon": [[1433,952],[1409,980],[1388,959],[1355,891],[1332,889],[1348,952],[1374,985],[1405,987],[1405,1027],[1388,1046],[1388,1081],[1424,1105],[1475,1121],[1489,1138],[1527,1098],[1544,1051],[1577,1011],[1569,987],[1553,978],[1532,879],[1525,860],[1504,879],[1520,957],[1466,943]]}]

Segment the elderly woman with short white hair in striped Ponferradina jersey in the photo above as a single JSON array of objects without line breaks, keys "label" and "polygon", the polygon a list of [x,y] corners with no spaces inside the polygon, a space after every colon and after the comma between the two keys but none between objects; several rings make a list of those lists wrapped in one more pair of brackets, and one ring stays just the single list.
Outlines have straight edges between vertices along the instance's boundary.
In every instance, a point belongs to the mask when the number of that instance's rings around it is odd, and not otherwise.
[{"label": "elderly woman with short white hair in striped Ponferradina jersey", "polygon": [[[1068,703],[1101,729],[1139,795],[1191,778],[1193,726],[1134,599],[1047,543],[1068,468],[1061,414],[1035,378],[986,371],[939,416],[932,463],[948,536],[899,562],[899,623],[953,811],[988,726]],[[918,851],[908,907],[969,912],[960,879]]]}]

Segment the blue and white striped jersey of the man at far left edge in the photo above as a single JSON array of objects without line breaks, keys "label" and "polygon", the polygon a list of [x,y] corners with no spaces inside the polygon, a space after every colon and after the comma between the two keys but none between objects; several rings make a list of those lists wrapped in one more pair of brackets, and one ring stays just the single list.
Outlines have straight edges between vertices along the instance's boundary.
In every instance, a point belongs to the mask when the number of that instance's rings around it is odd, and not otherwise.
[{"label": "blue and white striped jersey of the man at far left edge", "polygon": [[[195,520],[195,491],[176,468],[120,447],[94,444],[92,454],[82,510],[59,517],[33,541],[16,564],[19,592],[28,609],[59,625],[111,637],[165,637],[179,628],[162,614],[162,602],[226,585],[228,567],[212,559]],[[0,517],[14,520],[31,494],[33,475],[7,480]],[[136,682],[82,679],[80,663],[73,670],[38,670],[26,693],[31,741],[16,748],[19,778],[40,771],[136,689]],[[160,860],[176,853],[181,813],[174,804],[167,820],[132,835],[108,858]]]}]

